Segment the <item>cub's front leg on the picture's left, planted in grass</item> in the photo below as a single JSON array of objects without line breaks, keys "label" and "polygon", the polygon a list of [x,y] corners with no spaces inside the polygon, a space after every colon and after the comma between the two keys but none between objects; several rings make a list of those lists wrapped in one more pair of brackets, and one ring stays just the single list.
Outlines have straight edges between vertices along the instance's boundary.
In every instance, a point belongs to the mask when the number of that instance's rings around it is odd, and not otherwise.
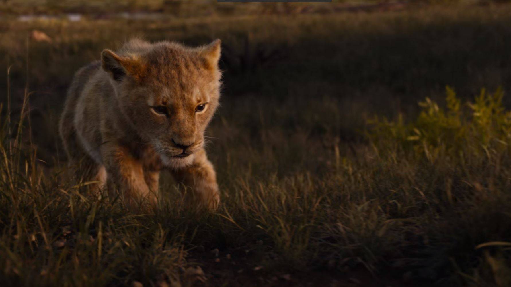
[{"label": "cub's front leg on the picture's left, planted in grass", "polygon": [[101,155],[111,195],[119,191],[125,203],[134,210],[155,207],[156,191],[150,190],[141,162],[133,158],[126,147],[108,142],[101,146]]}]

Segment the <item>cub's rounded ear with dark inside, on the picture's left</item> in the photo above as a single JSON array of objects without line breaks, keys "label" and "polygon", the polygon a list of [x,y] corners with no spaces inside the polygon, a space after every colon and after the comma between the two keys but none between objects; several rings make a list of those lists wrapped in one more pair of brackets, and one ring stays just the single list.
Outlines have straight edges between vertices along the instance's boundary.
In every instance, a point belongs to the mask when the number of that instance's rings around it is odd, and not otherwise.
[{"label": "cub's rounded ear with dark inside, on the picture's left", "polygon": [[133,56],[119,56],[113,51],[105,49],[101,52],[101,67],[117,82],[121,82],[126,75],[130,75],[136,80],[142,79],[142,63]]}]

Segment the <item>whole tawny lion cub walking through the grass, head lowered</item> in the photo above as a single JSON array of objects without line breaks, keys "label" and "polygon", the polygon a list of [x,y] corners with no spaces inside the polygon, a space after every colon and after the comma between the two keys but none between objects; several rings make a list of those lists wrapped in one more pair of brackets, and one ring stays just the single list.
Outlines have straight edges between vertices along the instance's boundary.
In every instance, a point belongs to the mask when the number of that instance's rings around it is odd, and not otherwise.
[{"label": "whole tawny lion cub walking through the grass, head lowered", "polygon": [[71,164],[130,206],[157,201],[162,169],[215,210],[215,169],[204,129],[218,106],[220,40],[201,47],[131,40],[75,74],[60,119]]}]

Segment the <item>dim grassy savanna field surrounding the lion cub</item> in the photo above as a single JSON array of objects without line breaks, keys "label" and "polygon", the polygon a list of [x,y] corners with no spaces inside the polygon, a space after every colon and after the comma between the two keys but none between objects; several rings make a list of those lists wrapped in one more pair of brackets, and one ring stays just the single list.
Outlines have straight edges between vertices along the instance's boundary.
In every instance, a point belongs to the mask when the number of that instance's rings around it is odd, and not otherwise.
[{"label": "dim grassy savanna field surrounding the lion cub", "polygon": [[[18,2],[0,18],[2,285],[511,286],[511,4]],[[94,16],[18,18],[59,9]],[[152,213],[66,175],[73,73],[135,36],[222,40],[216,213],[170,174]]]}]

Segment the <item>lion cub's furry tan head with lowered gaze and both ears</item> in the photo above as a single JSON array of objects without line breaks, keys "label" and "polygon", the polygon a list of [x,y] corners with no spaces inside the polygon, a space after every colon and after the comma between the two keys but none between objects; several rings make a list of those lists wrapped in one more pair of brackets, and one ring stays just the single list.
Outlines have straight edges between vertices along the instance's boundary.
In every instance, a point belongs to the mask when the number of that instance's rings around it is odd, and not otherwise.
[{"label": "lion cub's furry tan head with lowered gaze and both ears", "polygon": [[119,112],[169,167],[193,161],[218,106],[220,40],[190,48],[173,42],[128,42],[103,50],[103,70]]}]

